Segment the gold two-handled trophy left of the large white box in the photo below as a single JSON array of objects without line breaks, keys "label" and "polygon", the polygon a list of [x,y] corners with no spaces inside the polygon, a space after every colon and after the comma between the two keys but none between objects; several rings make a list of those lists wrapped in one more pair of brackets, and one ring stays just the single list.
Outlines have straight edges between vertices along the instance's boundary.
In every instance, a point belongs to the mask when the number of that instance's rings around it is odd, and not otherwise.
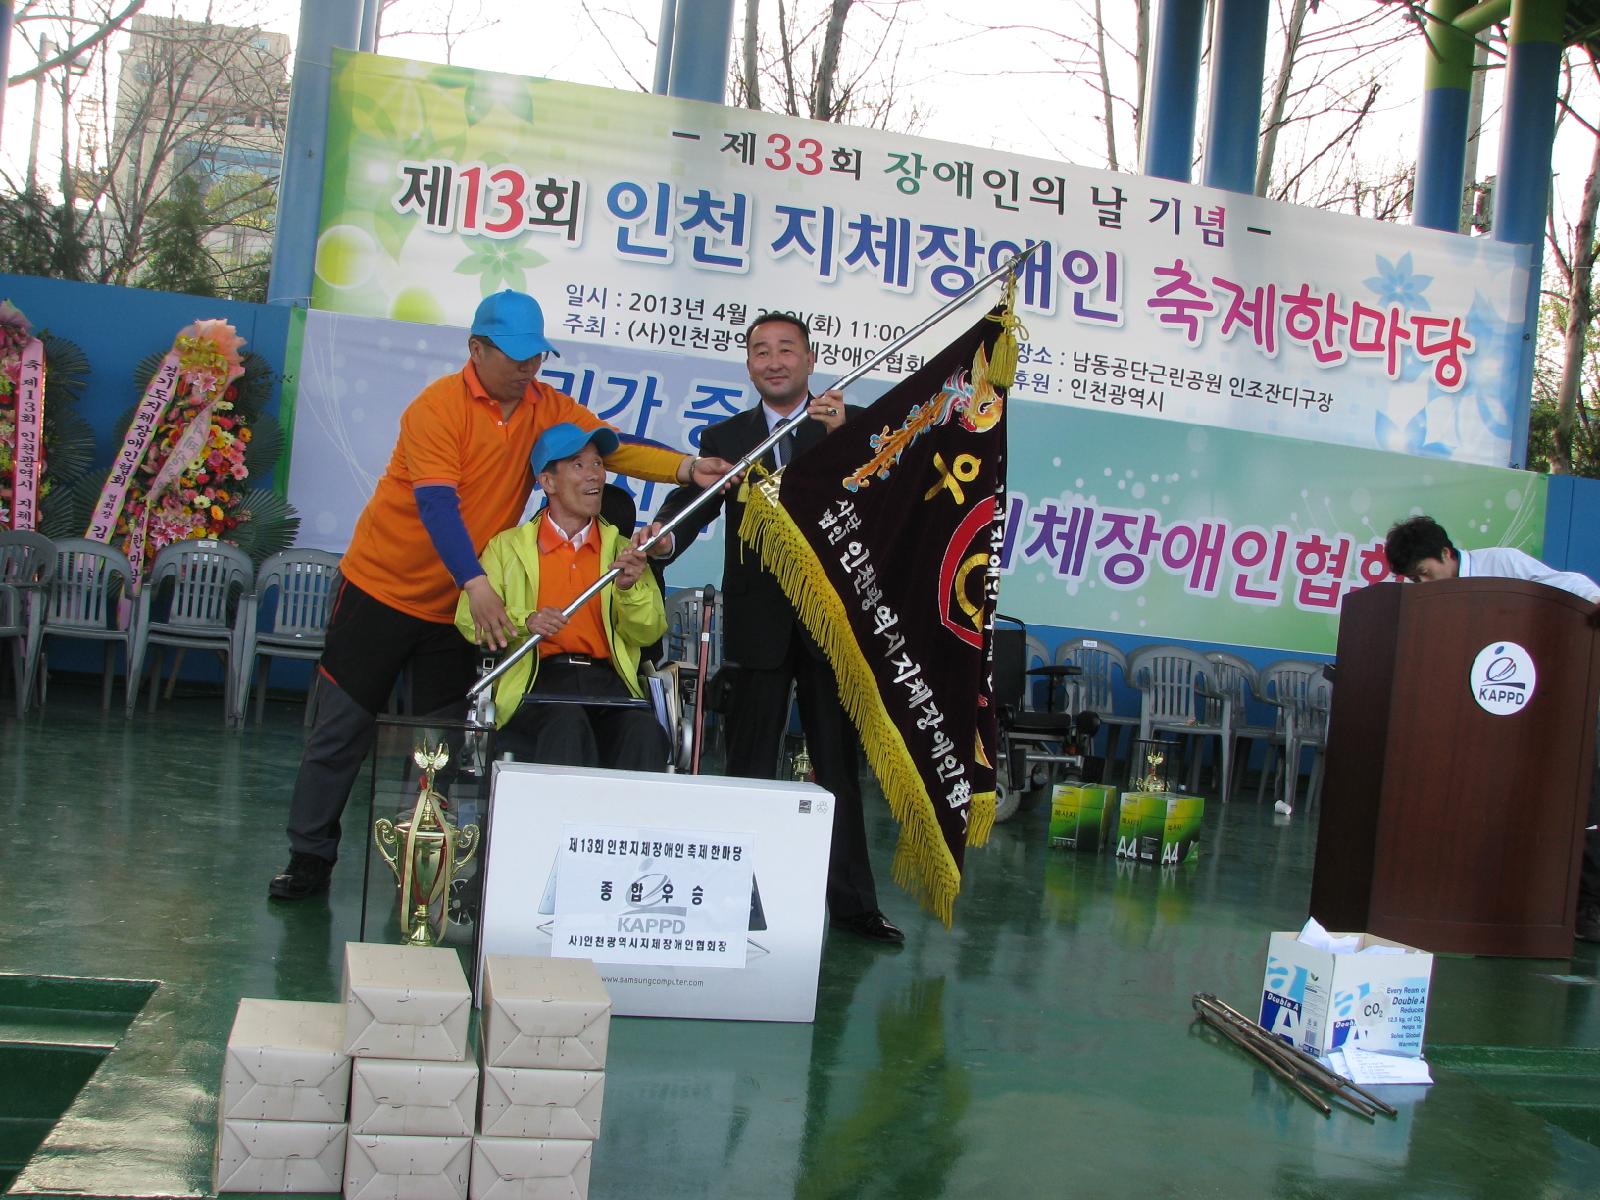
[{"label": "gold two-handled trophy left of the large white box", "polygon": [[437,750],[419,746],[411,762],[422,770],[416,808],[408,821],[379,818],[373,838],[400,882],[400,933],[406,946],[438,946],[445,939],[450,880],[477,853],[478,827],[456,829],[434,790],[435,773],[450,762],[443,742]]}]

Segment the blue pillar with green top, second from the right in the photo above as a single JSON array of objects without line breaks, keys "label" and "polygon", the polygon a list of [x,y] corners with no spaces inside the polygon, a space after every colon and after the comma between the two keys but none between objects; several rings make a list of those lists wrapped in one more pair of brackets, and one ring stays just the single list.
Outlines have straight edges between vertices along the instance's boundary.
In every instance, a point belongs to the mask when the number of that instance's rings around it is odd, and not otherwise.
[{"label": "blue pillar with green top, second from the right", "polygon": [[1467,168],[1467,107],[1472,102],[1472,37],[1456,27],[1469,0],[1430,0],[1422,24],[1422,138],[1416,157],[1411,222],[1461,232]]}]

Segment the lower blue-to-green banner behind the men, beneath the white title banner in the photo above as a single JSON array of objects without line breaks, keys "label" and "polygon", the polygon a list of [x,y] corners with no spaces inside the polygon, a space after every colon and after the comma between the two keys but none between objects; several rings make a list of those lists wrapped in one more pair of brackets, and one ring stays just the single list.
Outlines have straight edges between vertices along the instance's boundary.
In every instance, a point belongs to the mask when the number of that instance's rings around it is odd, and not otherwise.
[{"label": "lower blue-to-green banner behind the men, beneath the white title banner", "polygon": [[[461,370],[466,338],[306,315],[288,496],[304,544],[349,544],[400,413],[426,381]],[[755,403],[741,363],[634,349],[571,344],[542,378],[675,446]],[[869,381],[851,398],[880,390]],[[1544,475],[1027,400],[1010,405],[1008,422],[1000,611],[1030,626],[1331,654],[1341,600],[1382,578],[1384,531],[1411,512],[1434,514],[1461,546],[1542,550]],[[618,482],[643,514],[666,493]],[[720,578],[714,523],[667,584]]]}]

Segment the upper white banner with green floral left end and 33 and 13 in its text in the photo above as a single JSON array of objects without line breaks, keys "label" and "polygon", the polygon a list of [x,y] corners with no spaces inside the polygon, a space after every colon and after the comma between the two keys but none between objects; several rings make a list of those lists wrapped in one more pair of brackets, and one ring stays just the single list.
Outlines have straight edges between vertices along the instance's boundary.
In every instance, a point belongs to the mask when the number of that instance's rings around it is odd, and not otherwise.
[{"label": "upper white banner with green floral left end and 33 and 13 in its text", "polygon": [[1509,458],[1526,258],[1485,238],[344,51],[325,181],[317,309],[459,326],[512,286],[563,346],[739,378],[747,320],[782,307],[840,373],[1043,242],[1018,398],[1115,413],[1130,438],[1186,422]]}]

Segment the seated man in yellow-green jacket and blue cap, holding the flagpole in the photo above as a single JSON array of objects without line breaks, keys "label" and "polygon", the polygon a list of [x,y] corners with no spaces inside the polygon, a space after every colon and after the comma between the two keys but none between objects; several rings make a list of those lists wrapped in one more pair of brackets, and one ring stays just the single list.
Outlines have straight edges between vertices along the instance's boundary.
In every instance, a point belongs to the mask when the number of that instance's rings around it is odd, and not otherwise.
[{"label": "seated man in yellow-green jacket and blue cap, holding the flagpole", "polygon": [[[666,632],[666,605],[645,555],[600,518],[603,456],[616,446],[616,434],[605,426],[550,426],[530,456],[549,504],[483,549],[483,573],[506,603],[517,640],[541,635],[536,651],[494,685],[496,754],[566,766],[666,770],[667,736],[654,709],[640,704],[638,682],[640,646]],[[613,565],[621,568],[616,579],[563,618],[562,610]],[[456,629],[478,645],[493,642],[493,630],[474,621],[466,592],[456,605]],[[562,702],[522,704],[525,693],[530,701]]]}]

